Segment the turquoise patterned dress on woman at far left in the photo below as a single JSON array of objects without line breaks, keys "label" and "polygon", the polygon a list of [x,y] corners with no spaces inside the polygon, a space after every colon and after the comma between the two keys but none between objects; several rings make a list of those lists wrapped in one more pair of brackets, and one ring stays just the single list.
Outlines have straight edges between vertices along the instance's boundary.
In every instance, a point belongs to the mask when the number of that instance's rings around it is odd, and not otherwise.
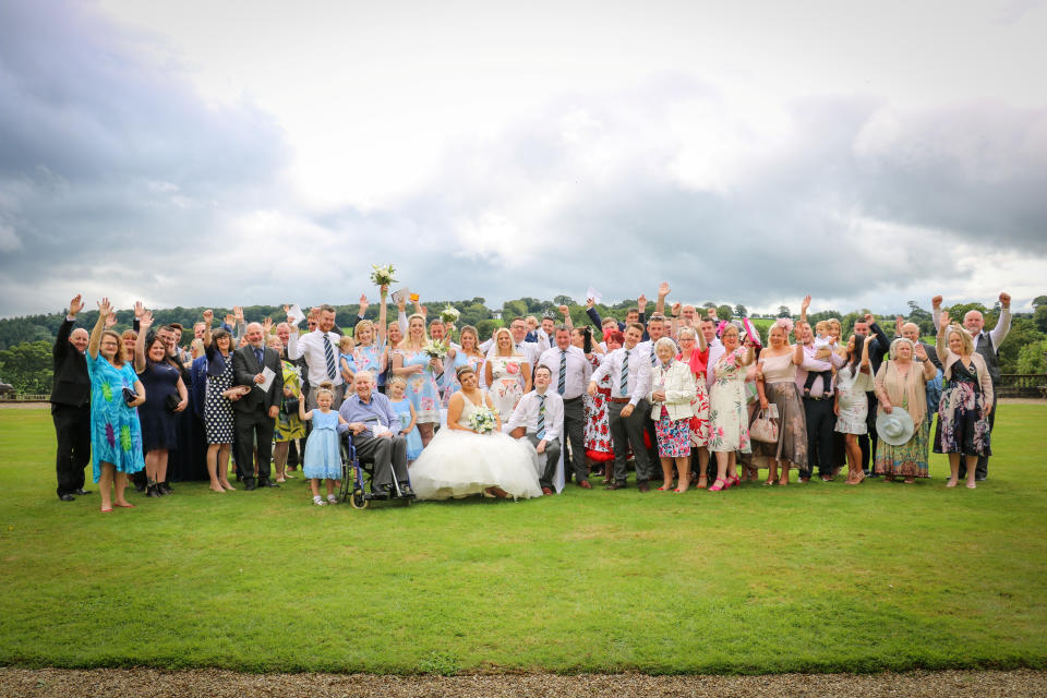
[{"label": "turquoise patterned dress on woman at far left", "polygon": [[101,464],[112,464],[118,472],[139,472],[145,468],[142,455],[142,428],[139,410],[123,401],[123,388],[134,389],[139,377],[129,364],[116,368],[101,354],[87,354],[91,376],[91,465],[95,482],[101,477]]}]

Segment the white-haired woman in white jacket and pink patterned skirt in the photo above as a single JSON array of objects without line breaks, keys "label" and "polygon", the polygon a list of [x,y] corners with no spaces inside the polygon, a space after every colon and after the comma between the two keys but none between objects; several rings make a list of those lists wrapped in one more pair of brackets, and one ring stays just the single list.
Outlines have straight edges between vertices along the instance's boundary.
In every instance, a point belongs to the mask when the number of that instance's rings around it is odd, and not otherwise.
[{"label": "white-haired woman in white jacket and pink patterned skirt", "polygon": [[675,492],[686,492],[690,485],[690,418],[695,411],[695,376],[690,366],[676,360],[676,344],[669,337],[654,342],[657,362],[651,369],[651,419],[658,441],[658,456],[662,461],[660,492],[673,489],[673,461],[679,482]]}]

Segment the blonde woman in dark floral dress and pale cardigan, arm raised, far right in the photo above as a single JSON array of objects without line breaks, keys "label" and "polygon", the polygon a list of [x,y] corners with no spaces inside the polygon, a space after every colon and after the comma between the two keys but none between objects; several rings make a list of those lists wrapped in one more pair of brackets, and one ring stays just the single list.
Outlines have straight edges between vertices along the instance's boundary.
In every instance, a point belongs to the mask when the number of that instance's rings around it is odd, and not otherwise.
[{"label": "blonde woman in dark floral dress and pale cardigan, arm raised, far right", "polygon": [[992,411],[992,378],[985,359],[974,350],[971,334],[949,324],[941,314],[935,349],[944,369],[947,386],[938,408],[935,453],[949,455],[949,483],[956,486],[960,458],[966,459],[967,486],[975,489],[975,466],[979,456],[991,456],[989,413]]}]

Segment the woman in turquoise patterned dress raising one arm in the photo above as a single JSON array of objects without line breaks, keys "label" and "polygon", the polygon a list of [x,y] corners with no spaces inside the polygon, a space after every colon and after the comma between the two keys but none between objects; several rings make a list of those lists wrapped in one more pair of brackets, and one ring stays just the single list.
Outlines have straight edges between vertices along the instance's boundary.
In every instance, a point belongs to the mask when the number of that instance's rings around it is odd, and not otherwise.
[{"label": "woman in turquoise patterned dress raising one arm", "polygon": [[[131,508],[123,498],[128,474],[145,468],[142,455],[142,428],[139,405],[145,402],[145,388],[134,369],[124,363],[120,335],[104,329],[111,306],[109,299],[98,303],[98,322],[87,344],[87,373],[91,376],[91,462],[94,480],[101,493],[101,513],[113,506]],[[134,398],[124,401],[124,389]],[[115,496],[110,493],[113,490]]]}]

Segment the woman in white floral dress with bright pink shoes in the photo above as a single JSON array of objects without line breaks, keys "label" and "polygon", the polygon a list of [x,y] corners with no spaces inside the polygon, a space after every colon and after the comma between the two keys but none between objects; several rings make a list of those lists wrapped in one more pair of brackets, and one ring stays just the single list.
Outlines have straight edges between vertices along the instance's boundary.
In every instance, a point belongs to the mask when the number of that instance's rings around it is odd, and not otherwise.
[{"label": "woman in white floral dress with bright pink shoes", "polygon": [[723,335],[723,356],[713,366],[715,383],[709,395],[709,450],[717,454],[717,480],[710,492],[726,490],[742,480],[735,471],[735,454],[750,453],[749,420],[746,408],[746,366],[753,363],[753,340],[738,346],[738,328],[727,325]]}]

